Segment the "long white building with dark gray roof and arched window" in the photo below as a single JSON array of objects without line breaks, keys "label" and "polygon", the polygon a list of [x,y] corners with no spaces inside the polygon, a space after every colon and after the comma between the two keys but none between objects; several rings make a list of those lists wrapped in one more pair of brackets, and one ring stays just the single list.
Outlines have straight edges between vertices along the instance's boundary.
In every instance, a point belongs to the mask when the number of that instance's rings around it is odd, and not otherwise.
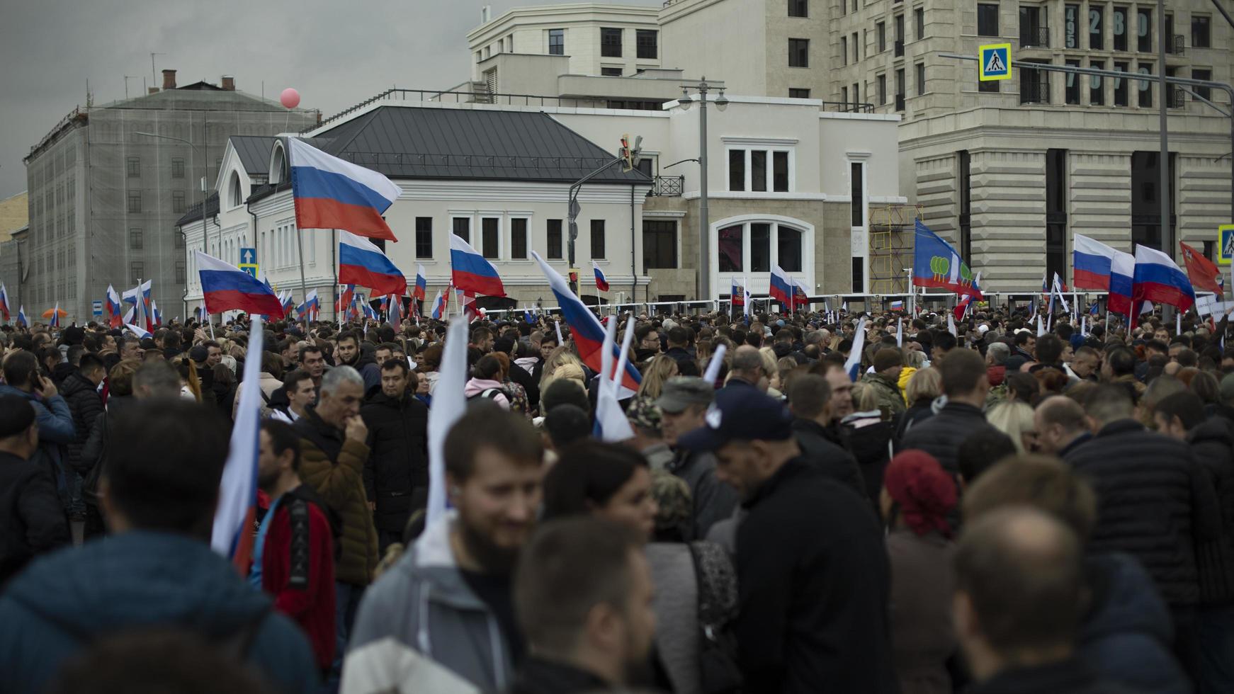
[{"label": "long white building with dark gray roof and arched window", "polygon": [[[408,277],[417,264],[424,266],[429,298],[449,280],[445,234],[457,233],[492,260],[510,295],[510,301],[481,300],[481,306],[552,303],[529,251],[568,272],[570,185],[611,161],[624,133],[643,137],[644,170],[661,175],[613,166],[582,186],[574,265],[581,270],[580,293],[587,301],[595,295],[595,259],[611,286],[603,301],[696,297],[698,168],[691,161],[670,171],[664,166],[697,157],[697,105],[674,101],[647,111],[402,97],[390,95],[327,120],[306,137],[400,185],[402,194],[386,212],[400,240],[385,250]],[[893,134],[898,117],[827,113],[811,100],[728,101],[723,111],[714,104],[708,108],[711,298],[727,296],[733,277],[749,277],[753,291],[765,293],[772,264],[814,295],[865,291],[868,211],[871,203],[903,202]],[[228,263],[238,263],[241,248],[257,248],[270,282],[294,290],[300,301],[285,168],[281,142],[232,138],[216,182],[218,224],[210,222],[206,232],[211,254]],[[197,219],[200,212],[190,212],[180,222],[190,249],[202,248]],[[336,263],[333,233],[304,233],[305,284],[317,288],[323,316],[336,296]],[[191,306],[201,296],[191,265],[189,280]]]}]

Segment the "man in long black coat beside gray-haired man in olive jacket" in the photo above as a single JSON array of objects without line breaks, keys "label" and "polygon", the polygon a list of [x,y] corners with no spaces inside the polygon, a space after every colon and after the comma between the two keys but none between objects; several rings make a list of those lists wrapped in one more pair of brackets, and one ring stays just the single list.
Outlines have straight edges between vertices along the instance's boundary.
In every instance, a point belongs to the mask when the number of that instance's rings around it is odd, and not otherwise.
[{"label": "man in long black coat beside gray-haired man in olive jacket", "polygon": [[428,408],[415,397],[417,383],[406,361],[391,359],[381,365],[381,392],[360,408],[371,446],[364,491],[381,555],[428,503]]}]

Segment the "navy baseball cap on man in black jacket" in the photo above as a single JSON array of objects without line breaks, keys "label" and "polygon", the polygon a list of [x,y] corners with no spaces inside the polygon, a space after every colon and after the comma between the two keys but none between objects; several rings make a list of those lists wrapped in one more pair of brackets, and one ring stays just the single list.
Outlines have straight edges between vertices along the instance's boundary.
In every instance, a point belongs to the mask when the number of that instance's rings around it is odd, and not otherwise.
[{"label": "navy baseball cap on man in black jacket", "polygon": [[703,427],[677,439],[680,447],[713,451],[737,440],[784,441],[792,436],[792,415],[782,402],[754,388],[722,388]]}]

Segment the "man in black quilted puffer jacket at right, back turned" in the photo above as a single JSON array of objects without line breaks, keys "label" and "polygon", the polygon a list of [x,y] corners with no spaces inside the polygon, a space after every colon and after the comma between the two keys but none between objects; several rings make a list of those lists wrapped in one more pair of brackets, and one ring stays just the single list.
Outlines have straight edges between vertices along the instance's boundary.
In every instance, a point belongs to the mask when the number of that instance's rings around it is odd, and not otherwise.
[{"label": "man in black quilted puffer jacket at right, back turned", "polygon": [[1092,551],[1127,552],[1144,565],[1175,620],[1175,651],[1196,673],[1196,541],[1215,540],[1215,493],[1203,483],[1187,444],[1149,431],[1133,419],[1125,386],[1098,386],[1085,402],[1096,435],[1066,456],[1097,492]]}]

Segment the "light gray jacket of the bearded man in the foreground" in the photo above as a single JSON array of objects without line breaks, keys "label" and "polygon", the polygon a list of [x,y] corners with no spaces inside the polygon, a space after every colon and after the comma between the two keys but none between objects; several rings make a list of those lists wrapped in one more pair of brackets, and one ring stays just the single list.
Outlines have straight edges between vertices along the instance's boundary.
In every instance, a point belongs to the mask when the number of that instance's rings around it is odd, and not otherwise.
[{"label": "light gray jacket of the bearded man in the foreground", "polygon": [[[352,634],[349,668],[366,668],[365,643],[394,637],[484,692],[503,692],[513,672],[497,618],[466,584],[450,549],[452,512],[369,587]],[[344,673],[346,677],[346,673]]]}]

